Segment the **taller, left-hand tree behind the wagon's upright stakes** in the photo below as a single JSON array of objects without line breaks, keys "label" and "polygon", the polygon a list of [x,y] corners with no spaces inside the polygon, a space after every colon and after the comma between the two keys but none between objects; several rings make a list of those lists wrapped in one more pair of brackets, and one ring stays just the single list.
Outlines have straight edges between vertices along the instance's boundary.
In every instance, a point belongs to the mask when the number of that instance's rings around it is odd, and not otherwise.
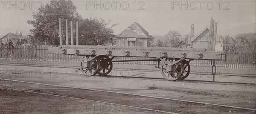
[{"label": "taller, left-hand tree behind the wagon's upright stakes", "polygon": [[[82,19],[76,12],[76,6],[70,0],[52,0],[38,12],[33,12],[32,16],[34,20],[28,20],[27,23],[34,27],[30,30],[34,35],[34,40],[39,44],[48,45],[59,45],[58,18],[62,18],[62,28],[65,28],[65,19],[68,22]],[[65,37],[64,30],[61,34]],[[62,41],[65,42],[65,39]]]}]

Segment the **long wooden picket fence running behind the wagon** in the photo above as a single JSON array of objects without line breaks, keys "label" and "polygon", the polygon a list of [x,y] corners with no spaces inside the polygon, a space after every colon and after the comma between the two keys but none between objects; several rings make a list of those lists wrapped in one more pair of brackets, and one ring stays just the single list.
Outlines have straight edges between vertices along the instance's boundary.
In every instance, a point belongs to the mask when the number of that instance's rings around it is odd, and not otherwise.
[{"label": "long wooden picket fence running behind the wagon", "polygon": [[[52,62],[79,62],[75,55],[48,54],[48,47],[37,48],[0,48],[0,60],[38,60]],[[116,57],[113,60],[151,59],[144,57]],[[120,64],[157,65],[157,61],[116,62]],[[229,68],[256,68],[256,53],[227,53],[226,61],[216,61],[216,66]],[[211,66],[210,60],[193,60],[191,66]]]}]

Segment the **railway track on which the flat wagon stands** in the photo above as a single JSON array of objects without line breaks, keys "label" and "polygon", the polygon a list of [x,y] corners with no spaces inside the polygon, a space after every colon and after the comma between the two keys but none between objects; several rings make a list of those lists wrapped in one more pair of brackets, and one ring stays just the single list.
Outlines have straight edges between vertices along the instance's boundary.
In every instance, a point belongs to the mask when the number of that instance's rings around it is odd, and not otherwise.
[{"label": "railway track on which the flat wagon stands", "polygon": [[[9,70],[12,73],[16,73],[17,70]],[[23,72],[27,72],[30,73],[31,71],[23,71]],[[50,73],[47,71],[37,71],[38,73]],[[81,75],[81,76],[85,76],[84,74],[80,74],[80,73],[61,73],[58,72],[58,75]],[[159,80],[159,81],[168,81],[165,80],[164,78],[157,78],[157,77],[129,77],[129,76],[114,76],[114,75],[96,75],[96,76],[86,76],[86,77],[107,77],[107,78],[125,78],[125,79],[141,79],[141,80]],[[222,85],[256,85],[256,83],[235,83],[235,82],[219,82],[219,81],[206,81],[206,80],[177,80],[176,82],[189,82],[189,83],[209,83],[209,84],[222,84]]]}]

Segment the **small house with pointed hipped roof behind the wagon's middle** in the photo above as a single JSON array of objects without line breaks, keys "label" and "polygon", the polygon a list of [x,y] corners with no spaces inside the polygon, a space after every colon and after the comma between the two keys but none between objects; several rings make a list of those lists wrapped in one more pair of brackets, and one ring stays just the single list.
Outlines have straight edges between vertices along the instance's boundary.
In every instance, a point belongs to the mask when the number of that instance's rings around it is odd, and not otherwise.
[{"label": "small house with pointed hipped roof behind the wagon's middle", "polygon": [[134,22],[116,36],[116,46],[149,47],[153,39],[139,23]]}]

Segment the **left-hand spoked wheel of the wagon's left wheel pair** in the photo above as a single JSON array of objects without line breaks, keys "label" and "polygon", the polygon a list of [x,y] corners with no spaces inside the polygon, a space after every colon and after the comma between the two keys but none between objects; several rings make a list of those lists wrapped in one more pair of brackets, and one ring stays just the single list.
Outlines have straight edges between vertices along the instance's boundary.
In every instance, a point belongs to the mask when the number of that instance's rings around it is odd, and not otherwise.
[{"label": "left-hand spoked wheel of the wagon's left wheel pair", "polygon": [[[88,57],[88,58],[91,58],[91,57]],[[93,76],[99,71],[100,62],[98,57],[94,58],[91,61],[85,61],[81,59],[80,61],[81,61],[80,69],[84,75]]]}]

